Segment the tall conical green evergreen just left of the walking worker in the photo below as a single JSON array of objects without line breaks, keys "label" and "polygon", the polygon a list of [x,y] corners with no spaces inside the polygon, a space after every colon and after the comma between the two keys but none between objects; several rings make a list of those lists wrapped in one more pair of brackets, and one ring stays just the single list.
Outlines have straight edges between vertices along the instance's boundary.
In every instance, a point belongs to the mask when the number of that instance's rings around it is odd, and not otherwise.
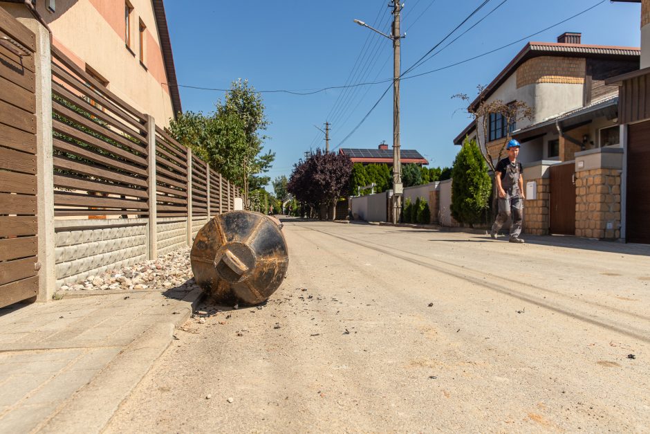
[{"label": "tall conical green evergreen just left of the walking worker", "polygon": [[460,223],[481,223],[490,203],[492,180],[475,141],[465,139],[452,167],[452,216]]}]

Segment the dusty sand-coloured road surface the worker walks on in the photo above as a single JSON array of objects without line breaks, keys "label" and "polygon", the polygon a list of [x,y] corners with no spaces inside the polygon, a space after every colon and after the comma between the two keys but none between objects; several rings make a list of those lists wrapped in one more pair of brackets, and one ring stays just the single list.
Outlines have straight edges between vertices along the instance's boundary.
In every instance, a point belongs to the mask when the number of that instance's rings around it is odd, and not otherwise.
[{"label": "dusty sand-coloured road surface the worker walks on", "polygon": [[650,431],[650,246],[284,233],[266,305],[203,307],[107,432]]}]

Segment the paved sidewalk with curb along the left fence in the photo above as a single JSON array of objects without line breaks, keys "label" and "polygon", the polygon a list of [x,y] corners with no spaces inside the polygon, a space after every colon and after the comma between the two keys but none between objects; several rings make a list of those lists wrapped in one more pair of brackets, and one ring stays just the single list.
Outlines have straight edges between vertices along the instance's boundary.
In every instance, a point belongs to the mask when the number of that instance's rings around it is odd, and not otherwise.
[{"label": "paved sidewalk with curb along the left fence", "polygon": [[0,309],[0,433],[101,431],[200,297],[189,287]]}]

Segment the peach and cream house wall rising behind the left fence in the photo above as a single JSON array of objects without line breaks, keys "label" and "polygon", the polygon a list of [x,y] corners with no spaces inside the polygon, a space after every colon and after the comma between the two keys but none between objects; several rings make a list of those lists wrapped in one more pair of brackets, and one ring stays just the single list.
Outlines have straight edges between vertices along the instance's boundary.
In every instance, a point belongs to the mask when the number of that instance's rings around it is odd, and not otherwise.
[{"label": "peach and cream house wall rising behind the left fence", "polygon": [[[53,33],[53,45],[82,68],[86,65],[109,82],[108,89],[129,105],[151,114],[167,127],[174,116],[160,38],[151,0],[130,0],[131,51],[124,44],[124,1],[57,0],[56,10],[38,1],[37,10]],[[22,5],[3,6],[12,15],[26,16]],[[140,64],[138,23],[145,30],[145,66]]]}]

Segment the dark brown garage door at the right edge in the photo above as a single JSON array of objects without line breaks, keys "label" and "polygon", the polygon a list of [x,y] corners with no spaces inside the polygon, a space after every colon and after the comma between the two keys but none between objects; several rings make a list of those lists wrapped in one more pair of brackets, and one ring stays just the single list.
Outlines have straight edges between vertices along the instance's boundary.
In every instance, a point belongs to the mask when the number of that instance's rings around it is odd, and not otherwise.
[{"label": "dark brown garage door at the right edge", "polygon": [[630,125],[625,239],[650,244],[650,121]]}]

